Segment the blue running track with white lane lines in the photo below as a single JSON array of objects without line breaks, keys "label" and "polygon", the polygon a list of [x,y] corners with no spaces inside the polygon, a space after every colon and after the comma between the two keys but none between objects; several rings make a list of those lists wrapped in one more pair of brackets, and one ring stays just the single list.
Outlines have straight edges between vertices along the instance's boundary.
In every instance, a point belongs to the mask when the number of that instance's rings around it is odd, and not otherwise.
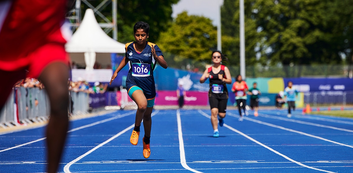
[{"label": "blue running track with white lane lines", "polygon": [[[59,172],[319,173],[353,172],[353,119],[260,110],[238,121],[228,110],[213,137],[209,109],[154,110],[151,156],[130,144],[135,110],[72,120]],[[0,133],[0,172],[46,166],[45,126]]]}]

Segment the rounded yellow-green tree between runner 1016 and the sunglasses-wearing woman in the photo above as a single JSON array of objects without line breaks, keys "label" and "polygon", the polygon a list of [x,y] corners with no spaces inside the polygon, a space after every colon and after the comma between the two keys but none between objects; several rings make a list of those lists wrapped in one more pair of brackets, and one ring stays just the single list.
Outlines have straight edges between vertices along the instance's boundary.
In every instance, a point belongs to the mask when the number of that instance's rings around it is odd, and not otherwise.
[{"label": "rounded yellow-green tree between runner 1016 and the sunglasses-wearing woman", "polygon": [[217,28],[211,19],[184,11],[168,30],[161,32],[157,44],[164,52],[179,55],[174,57],[175,61],[208,61],[217,47]]}]

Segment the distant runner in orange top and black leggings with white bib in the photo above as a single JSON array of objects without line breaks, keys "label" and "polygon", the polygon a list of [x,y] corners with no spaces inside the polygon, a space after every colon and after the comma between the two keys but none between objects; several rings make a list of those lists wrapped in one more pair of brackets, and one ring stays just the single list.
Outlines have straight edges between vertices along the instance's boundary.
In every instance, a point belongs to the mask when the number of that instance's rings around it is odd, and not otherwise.
[{"label": "distant runner in orange top and black leggings with white bib", "polygon": [[[241,78],[241,75],[238,75],[235,78],[235,82],[233,83],[232,91],[235,93],[235,100],[237,101],[238,110],[239,110],[239,121],[243,121],[244,114],[248,115],[245,106],[246,106],[246,91],[249,90],[246,82]],[[241,113],[241,108],[243,108],[244,112]]]}]

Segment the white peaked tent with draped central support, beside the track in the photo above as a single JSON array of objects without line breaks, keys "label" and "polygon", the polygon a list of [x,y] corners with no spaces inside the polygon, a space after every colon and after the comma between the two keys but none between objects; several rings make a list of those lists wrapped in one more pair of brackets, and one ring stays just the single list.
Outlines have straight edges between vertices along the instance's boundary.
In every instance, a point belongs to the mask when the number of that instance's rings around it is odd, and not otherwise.
[{"label": "white peaked tent with draped central support, beside the track", "polygon": [[[87,9],[79,28],[66,43],[65,50],[75,62],[83,62],[84,56],[86,70],[92,70],[96,60],[110,61],[110,54],[96,56],[96,53],[125,53],[125,44],[110,38],[99,26],[93,10]],[[104,60],[100,61],[100,58]]]}]

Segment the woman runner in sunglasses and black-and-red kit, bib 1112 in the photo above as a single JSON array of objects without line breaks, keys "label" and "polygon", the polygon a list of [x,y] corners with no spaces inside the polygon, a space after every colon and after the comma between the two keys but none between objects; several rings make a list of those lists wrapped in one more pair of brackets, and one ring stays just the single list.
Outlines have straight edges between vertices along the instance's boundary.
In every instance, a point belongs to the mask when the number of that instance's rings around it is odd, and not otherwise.
[{"label": "woman runner in sunglasses and black-and-red kit, bib 1112", "polygon": [[200,83],[204,83],[207,78],[210,80],[210,90],[208,92],[211,107],[211,124],[213,126],[213,137],[219,137],[217,115],[219,124],[224,124],[223,118],[226,117],[228,90],[226,84],[232,83],[229,69],[221,65],[222,59],[227,60],[225,55],[219,50],[212,52],[213,66],[207,68],[200,78]]}]

